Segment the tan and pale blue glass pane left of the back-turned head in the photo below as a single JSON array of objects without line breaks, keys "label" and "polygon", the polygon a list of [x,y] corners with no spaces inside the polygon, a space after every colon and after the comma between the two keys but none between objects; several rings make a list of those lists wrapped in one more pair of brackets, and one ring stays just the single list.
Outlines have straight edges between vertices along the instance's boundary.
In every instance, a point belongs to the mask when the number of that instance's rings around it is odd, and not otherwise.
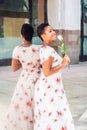
[{"label": "tan and pale blue glass pane left of the back-turned head", "polygon": [[14,47],[22,43],[20,29],[27,21],[24,18],[0,17],[0,59],[11,58]]}]

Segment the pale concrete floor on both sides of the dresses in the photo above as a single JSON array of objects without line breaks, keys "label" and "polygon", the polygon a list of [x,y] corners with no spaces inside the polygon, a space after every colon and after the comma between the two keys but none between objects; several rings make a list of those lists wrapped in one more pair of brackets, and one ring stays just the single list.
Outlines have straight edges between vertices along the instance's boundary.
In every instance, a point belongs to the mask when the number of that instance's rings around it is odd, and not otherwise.
[{"label": "pale concrete floor on both sides of the dresses", "polygon": [[[11,66],[0,67],[0,130],[19,74]],[[87,62],[65,67],[62,77],[76,130],[87,130]]]}]

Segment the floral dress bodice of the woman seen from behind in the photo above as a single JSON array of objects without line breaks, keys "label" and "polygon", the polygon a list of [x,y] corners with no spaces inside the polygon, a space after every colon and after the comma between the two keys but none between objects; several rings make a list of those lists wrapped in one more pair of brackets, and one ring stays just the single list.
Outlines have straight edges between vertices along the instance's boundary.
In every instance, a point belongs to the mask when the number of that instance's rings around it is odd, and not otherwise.
[{"label": "floral dress bodice of the woman seen from behind", "polygon": [[18,59],[22,68],[26,70],[33,71],[40,66],[38,45],[31,45],[29,47],[17,46],[13,51],[13,58]]}]

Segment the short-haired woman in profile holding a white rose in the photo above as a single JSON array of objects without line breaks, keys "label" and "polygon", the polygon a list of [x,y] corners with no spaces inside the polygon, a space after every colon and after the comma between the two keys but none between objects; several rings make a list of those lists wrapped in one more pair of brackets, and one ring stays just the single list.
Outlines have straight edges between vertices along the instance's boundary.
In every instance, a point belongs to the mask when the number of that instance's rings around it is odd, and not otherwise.
[{"label": "short-haired woman in profile holding a white rose", "polygon": [[40,49],[42,74],[35,85],[34,130],[75,130],[61,79],[61,70],[70,63],[51,47],[56,33],[48,23],[37,28],[43,41]]}]

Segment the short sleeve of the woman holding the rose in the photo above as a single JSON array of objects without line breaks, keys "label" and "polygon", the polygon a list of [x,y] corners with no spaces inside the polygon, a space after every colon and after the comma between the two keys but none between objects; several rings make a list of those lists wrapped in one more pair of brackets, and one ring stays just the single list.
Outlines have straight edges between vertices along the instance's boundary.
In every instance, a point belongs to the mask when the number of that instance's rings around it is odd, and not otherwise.
[{"label": "short sleeve of the woman holding the rose", "polygon": [[41,48],[41,50],[40,50],[41,64],[44,61],[48,60],[50,56],[51,56],[51,49],[50,48]]}]

